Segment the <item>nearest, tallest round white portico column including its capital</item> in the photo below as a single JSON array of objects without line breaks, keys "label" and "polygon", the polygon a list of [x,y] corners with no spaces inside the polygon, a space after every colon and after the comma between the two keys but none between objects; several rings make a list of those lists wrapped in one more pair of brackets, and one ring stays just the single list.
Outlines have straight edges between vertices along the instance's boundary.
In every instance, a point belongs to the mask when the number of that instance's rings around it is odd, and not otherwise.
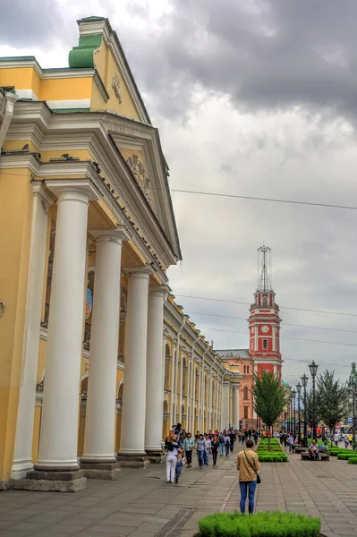
[{"label": "nearest, tallest round white portico column including its capital", "polygon": [[[78,404],[81,379],[86,239],[89,199],[98,199],[88,181],[51,181],[57,222],[47,362],[37,470],[79,468]],[[81,187],[82,185],[82,187]]]}]

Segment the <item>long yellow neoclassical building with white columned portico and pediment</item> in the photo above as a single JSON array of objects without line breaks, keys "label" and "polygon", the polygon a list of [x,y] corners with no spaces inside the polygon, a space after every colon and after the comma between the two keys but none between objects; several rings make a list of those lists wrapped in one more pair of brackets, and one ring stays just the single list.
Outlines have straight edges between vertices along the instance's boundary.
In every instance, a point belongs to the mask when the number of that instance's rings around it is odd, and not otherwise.
[{"label": "long yellow neoclassical building with white columned portico and pediment", "polygon": [[157,129],[109,21],[79,30],[68,68],[0,58],[0,489],[80,490],[237,419],[239,375],[170,294]]}]

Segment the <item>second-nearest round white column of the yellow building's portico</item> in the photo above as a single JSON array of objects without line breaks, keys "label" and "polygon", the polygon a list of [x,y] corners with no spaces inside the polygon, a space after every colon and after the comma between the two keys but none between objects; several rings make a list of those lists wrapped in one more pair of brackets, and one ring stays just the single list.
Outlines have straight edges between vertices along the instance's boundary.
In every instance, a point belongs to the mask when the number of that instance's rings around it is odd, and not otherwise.
[{"label": "second-nearest round white column of the yellow building's portico", "polygon": [[89,379],[83,463],[116,463],[115,389],[118,357],[122,227],[91,230],[96,239],[96,273],[90,333]]}]

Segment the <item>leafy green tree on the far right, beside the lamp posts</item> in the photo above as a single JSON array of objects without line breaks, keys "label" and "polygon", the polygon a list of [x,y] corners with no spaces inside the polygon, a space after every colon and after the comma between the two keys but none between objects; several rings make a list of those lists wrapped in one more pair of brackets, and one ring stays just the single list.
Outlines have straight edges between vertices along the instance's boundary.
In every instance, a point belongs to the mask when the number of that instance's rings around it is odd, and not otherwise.
[{"label": "leafy green tree on the far right, beside the lamp posts", "polygon": [[346,414],[348,388],[335,379],[335,371],[325,371],[316,383],[316,409],[319,419],[327,425],[332,436],[336,422]]}]

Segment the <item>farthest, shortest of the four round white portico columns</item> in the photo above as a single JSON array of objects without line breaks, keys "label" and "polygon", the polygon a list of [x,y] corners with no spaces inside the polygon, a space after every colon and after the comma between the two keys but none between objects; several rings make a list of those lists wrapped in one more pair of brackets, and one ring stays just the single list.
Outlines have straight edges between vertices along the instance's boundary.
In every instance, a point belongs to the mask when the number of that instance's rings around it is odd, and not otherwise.
[{"label": "farthest, shortest of the four round white portico columns", "polygon": [[157,372],[162,371],[162,329],[167,294],[166,286],[153,287],[149,291],[145,451],[154,457],[162,456],[164,390],[157,383]]}]

